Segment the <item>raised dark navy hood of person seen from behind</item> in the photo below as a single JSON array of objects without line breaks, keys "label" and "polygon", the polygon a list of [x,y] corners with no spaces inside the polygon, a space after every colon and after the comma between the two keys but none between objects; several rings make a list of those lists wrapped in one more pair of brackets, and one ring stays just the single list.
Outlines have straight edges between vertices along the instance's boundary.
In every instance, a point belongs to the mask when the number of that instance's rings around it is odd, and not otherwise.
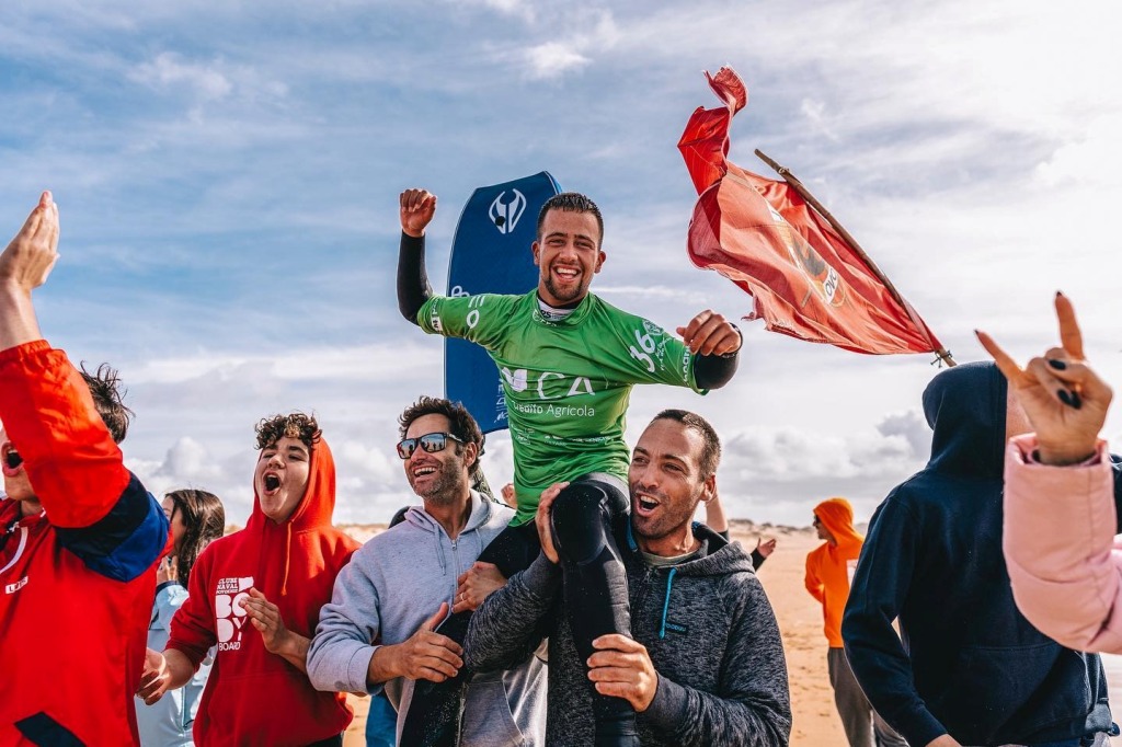
[{"label": "raised dark navy hood of person seen from behind", "polygon": [[963,363],[923,391],[931,426],[928,469],[971,478],[1001,479],[1005,452],[1005,377],[992,362]]}]

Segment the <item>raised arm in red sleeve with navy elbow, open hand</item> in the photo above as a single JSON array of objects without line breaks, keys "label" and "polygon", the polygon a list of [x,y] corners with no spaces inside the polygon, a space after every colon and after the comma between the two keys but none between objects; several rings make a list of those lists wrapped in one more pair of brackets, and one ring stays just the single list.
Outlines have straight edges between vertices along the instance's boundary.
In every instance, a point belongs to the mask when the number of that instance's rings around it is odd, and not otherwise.
[{"label": "raised arm in red sleeve with navy elbow, open hand", "polygon": [[90,388],[43,340],[31,292],[58,259],[58,208],[44,192],[0,253],[0,419],[62,545],[119,581],[147,571],[167,518],[122,463]]}]

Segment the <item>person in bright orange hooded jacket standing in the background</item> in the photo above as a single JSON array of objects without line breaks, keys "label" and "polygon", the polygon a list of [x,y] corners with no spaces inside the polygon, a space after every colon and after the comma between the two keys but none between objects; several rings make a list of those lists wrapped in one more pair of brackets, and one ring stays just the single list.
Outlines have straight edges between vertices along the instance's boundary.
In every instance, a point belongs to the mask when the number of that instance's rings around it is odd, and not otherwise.
[{"label": "person in bright orange hooded jacket standing in the background", "polygon": [[[829,649],[826,662],[834,688],[834,703],[845,727],[849,747],[898,747],[907,745],[892,727],[876,714],[857,684],[842,643],[842,612],[849,599],[849,582],[865,537],[853,526],[853,506],[845,498],[830,498],[815,507],[815,529],[825,540],[807,554],[807,591],[822,605]],[[874,741],[875,739],[875,741]]]}]

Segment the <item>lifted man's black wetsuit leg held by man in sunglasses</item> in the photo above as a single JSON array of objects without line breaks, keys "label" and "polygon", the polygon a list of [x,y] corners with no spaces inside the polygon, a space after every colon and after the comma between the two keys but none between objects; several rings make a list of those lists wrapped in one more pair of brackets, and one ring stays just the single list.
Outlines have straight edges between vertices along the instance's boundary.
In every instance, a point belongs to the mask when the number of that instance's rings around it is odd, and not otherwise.
[{"label": "lifted man's black wetsuit leg held by man in sunglasses", "polygon": [[[494,563],[507,579],[530,568],[542,546],[533,522],[508,526],[484,547],[479,560]],[[436,633],[463,644],[471,612],[457,612],[444,620]],[[417,680],[413,700],[402,727],[401,747],[456,747],[460,741],[463,697],[472,673],[461,667],[459,674],[444,682]]]}]

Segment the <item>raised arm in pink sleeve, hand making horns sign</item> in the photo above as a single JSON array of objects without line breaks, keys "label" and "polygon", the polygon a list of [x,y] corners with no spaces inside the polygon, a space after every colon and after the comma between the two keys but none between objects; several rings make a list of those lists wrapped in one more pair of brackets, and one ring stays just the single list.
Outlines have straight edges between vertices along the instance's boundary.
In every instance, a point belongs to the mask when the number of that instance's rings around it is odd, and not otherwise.
[{"label": "raised arm in pink sleeve, hand making horns sign", "polygon": [[1122,478],[1098,433],[1111,388],[1084,358],[1072,302],[1056,294],[1060,345],[1022,369],[984,332],[1034,433],[1005,453],[1003,546],[1021,614],[1077,651],[1122,653]]}]

